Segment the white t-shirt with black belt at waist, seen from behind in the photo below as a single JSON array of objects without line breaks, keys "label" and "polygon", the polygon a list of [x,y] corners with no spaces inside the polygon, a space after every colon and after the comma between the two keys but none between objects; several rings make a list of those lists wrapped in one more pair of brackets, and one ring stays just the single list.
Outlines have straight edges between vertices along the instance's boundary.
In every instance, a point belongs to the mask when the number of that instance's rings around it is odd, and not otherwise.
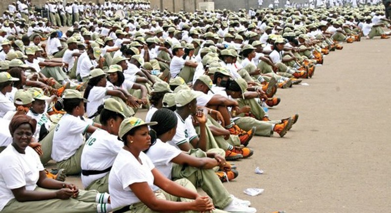
[{"label": "white t-shirt with black belt at waist, seen from behind", "polygon": [[[84,145],[81,158],[82,169],[102,171],[109,168],[113,165],[123,146],[124,144],[117,139],[117,136],[111,135],[103,129],[96,130]],[[84,188],[106,174],[107,172],[88,176],[82,174]]]}]

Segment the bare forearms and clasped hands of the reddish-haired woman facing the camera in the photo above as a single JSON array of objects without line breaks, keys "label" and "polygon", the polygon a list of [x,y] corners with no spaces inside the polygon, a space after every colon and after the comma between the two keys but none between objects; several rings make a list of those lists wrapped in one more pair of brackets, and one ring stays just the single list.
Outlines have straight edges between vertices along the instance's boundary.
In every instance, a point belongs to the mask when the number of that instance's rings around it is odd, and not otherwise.
[{"label": "bare forearms and clasped hands of the reddish-haired woman facing the camera", "polygon": [[40,171],[40,177],[37,185],[42,188],[58,190],[52,192],[28,191],[26,190],[26,187],[23,186],[17,189],[12,189],[11,191],[15,199],[19,202],[42,201],[49,199],[67,200],[71,197],[76,198],[79,195],[79,189],[77,186],[47,178],[45,171]]}]

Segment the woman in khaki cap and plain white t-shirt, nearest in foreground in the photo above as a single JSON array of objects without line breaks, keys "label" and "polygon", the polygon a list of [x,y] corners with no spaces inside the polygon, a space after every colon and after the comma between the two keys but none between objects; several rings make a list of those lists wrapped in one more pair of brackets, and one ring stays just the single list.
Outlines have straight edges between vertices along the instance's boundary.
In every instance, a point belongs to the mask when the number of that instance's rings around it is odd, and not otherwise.
[{"label": "woman in khaki cap and plain white t-shirt, nearest in foreground", "polygon": [[[173,182],[156,169],[143,152],[151,145],[148,126],[140,118],[122,121],[118,137],[124,142],[109,175],[111,205],[115,213],[210,212],[213,204],[200,196],[190,181]],[[156,185],[161,190],[152,191]]]}]

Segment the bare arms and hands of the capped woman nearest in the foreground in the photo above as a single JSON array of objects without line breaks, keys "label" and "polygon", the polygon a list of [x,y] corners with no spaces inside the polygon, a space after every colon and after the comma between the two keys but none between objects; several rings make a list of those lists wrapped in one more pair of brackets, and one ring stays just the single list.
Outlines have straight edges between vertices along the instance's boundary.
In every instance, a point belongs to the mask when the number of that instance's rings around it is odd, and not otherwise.
[{"label": "bare arms and hands of the capped woman nearest in the foreground", "polygon": [[194,199],[193,202],[173,202],[162,199],[157,199],[153,191],[149,188],[147,182],[133,183],[129,188],[149,209],[155,212],[178,213],[185,211],[211,211],[213,204],[208,200],[208,197],[201,197],[196,192],[188,190],[179,184],[167,179],[156,168],[151,170],[156,186],[166,191],[167,193],[183,198]]}]

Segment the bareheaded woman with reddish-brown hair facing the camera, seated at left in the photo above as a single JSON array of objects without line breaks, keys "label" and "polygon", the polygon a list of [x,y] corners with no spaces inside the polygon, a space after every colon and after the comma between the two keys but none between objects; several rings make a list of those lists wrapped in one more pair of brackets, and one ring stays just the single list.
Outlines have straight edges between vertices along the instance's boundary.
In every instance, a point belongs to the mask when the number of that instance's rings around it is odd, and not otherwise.
[{"label": "bareheaded woman with reddish-brown hair facing the camera, seated at left", "polygon": [[38,155],[29,147],[37,121],[16,115],[9,123],[12,143],[0,154],[0,211],[29,213],[110,212],[107,193],[82,191],[76,185],[47,178]]}]

